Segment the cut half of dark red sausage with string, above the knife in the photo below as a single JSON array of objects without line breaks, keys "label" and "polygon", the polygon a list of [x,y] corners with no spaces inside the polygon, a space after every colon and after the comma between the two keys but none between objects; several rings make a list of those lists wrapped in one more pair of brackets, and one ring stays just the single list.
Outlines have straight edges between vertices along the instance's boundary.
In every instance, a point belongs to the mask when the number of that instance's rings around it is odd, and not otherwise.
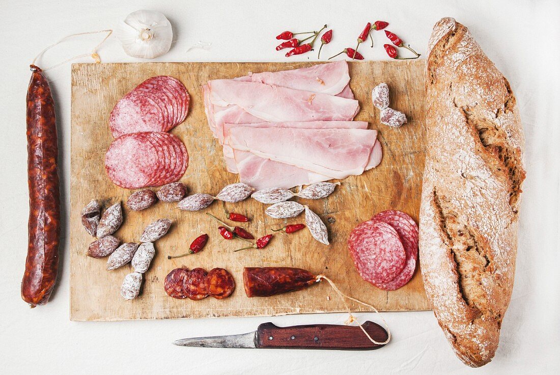
[{"label": "cut half of dark red sausage with string, above the knife", "polygon": [[243,284],[247,297],[270,297],[293,292],[318,282],[309,271],[291,267],[245,267]]}]

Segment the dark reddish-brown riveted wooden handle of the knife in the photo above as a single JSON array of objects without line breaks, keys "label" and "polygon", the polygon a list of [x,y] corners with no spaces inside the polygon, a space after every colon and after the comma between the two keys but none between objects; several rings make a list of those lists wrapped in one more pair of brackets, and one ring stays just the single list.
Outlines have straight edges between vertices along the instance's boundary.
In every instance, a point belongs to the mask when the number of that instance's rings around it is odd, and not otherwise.
[{"label": "dark reddish-brown riveted wooden handle of the knife", "polygon": [[[379,324],[366,321],[362,326],[379,343],[388,338],[387,331]],[[372,343],[358,326],[337,324],[277,327],[263,323],[256,330],[255,341],[260,349],[371,350],[384,346]]]}]

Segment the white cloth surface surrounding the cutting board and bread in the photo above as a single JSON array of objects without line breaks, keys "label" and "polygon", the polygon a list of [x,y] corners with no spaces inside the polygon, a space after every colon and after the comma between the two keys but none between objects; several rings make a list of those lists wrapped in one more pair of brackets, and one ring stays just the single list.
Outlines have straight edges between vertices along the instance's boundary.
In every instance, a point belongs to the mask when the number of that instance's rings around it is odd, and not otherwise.
[{"label": "white cloth surface surrounding the cutting board and bread", "polygon": [[[527,179],[522,196],[515,288],[493,361],[477,373],[558,373],[560,309],[558,163],[558,1],[8,1],[1,0],[0,67],[0,372],[2,373],[470,373],[452,353],[432,312],[385,313],[394,339],[374,352],[181,348],[188,336],[245,333],[265,321],[277,325],[338,323],[343,314],[204,320],[71,322],[68,231],[52,301],[30,310],[20,298],[27,248],[25,95],[29,64],[45,46],[74,32],[108,29],[129,12],[152,8],[175,31],[170,52],[156,61],[286,61],[274,50],[284,30],[334,29],[330,56],[354,47],[363,25],[378,19],[424,53],[432,25],[444,16],[468,26],[517,96],[526,136]],[[375,33],[374,33],[375,34]],[[87,53],[99,35],[48,53],[41,66]],[[385,59],[385,37],[361,49]],[[195,42],[209,50],[186,50]],[[115,37],[104,62],[138,61]],[[301,56],[314,60],[315,53]],[[298,58],[292,58],[297,60]],[[89,61],[82,59],[82,61]],[[68,221],[70,65],[46,73],[58,104],[64,221]],[[375,78],[372,77],[372,82]],[[372,82],[353,82],[372,85]],[[421,84],[421,83],[419,83]],[[196,93],[193,93],[196,94]],[[73,220],[76,220],[74,217]],[[83,298],[87,298],[84,291]],[[374,314],[361,320],[379,321]]]}]

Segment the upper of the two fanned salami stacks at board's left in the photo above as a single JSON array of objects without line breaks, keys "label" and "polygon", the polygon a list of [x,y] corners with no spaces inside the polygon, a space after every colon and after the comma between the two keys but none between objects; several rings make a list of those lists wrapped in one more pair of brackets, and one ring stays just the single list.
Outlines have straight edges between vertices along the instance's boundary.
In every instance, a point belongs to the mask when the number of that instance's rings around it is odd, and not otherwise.
[{"label": "upper of the two fanned salami stacks at board's left", "polygon": [[148,78],[120,99],[111,115],[113,136],[142,131],[169,131],[185,120],[190,97],[179,80],[166,75]]}]

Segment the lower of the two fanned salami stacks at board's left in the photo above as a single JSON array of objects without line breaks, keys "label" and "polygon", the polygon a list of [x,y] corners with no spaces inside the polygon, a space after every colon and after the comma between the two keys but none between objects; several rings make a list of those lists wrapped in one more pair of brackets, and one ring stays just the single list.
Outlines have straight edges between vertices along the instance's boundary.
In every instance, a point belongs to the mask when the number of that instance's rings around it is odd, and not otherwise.
[{"label": "lower of the two fanned salami stacks at board's left", "polygon": [[185,145],[166,132],[124,134],[105,154],[105,170],[116,185],[136,189],[178,181],[189,164]]}]

